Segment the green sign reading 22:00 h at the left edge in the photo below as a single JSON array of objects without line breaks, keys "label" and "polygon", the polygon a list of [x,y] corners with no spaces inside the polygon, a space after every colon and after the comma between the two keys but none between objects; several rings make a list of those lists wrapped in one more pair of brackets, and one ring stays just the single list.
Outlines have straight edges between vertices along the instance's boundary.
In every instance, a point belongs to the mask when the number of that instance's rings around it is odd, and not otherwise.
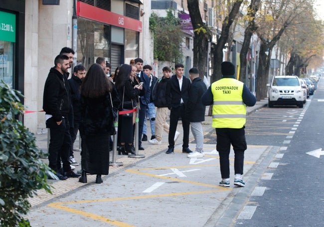
[{"label": "green sign reading 22:00 h at the left edge", "polygon": [[16,15],[0,11],[0,40],[16,41]]}]

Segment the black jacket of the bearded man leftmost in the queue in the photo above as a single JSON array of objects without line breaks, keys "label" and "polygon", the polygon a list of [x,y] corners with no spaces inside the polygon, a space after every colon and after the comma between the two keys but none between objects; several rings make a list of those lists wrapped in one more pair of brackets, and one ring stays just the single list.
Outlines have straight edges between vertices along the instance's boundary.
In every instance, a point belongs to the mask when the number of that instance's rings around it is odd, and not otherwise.
[{"label": "black jacket of the bearded man leftmost in the queue", "polygon": [[49,70],[44,86],[43,110],[52,115],[56,122],[67,117],[71,109],[71,100],[67,80],[54,67]]}]

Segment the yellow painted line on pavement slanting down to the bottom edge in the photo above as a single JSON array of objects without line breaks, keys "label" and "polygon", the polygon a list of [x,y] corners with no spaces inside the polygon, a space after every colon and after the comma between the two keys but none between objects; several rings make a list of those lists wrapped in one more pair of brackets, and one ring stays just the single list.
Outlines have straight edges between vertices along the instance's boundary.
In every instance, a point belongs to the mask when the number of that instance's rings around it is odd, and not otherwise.
[{"label": "yellow painted line on pavement slanting down to the bottom edge", "polygon": [[76,209],[73,209],[73,208],[64,207],[64,206],[60,205],[59,203],[52,203],[52,204],[49,204],[47,206],[52,207],[52,208],[56,208],[56,209],[59,209],[59,210],[67,211],[67,212],[70,212],[70,213],[73,213],[73,214],[76,214],[76,215],[84,216],[84,217],[87,217],[87,218],[90,218],[90,219],[94,219],[96,221],[100,221],[100,222],[103,222],[103,223],[108,223],[108,224],[118,226],[118,227],[135,227],[135,226],[132,226],[132,225],[129,225],[129,224],[126,224],[126,223],[122,223],[122,222],[119,222],[119,221],[107,219],[107,218],[105,218],[103,216],[91,214],[91,213],[76,210]]}]

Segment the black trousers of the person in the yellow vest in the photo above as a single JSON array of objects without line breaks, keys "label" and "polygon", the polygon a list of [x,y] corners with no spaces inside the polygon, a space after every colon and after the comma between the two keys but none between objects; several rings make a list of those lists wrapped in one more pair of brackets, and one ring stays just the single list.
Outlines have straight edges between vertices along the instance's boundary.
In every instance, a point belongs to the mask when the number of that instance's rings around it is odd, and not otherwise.
[{"label": "black trousers of the person in the yellow vest", "polygon": [[247,149],[244,128],[216,128],[216,150],[219,154],[222,178],[229,178],[230,175],[229,153],[231,144],[234,150],[234,172],[235,174],[243,174],[244,151]]}]

